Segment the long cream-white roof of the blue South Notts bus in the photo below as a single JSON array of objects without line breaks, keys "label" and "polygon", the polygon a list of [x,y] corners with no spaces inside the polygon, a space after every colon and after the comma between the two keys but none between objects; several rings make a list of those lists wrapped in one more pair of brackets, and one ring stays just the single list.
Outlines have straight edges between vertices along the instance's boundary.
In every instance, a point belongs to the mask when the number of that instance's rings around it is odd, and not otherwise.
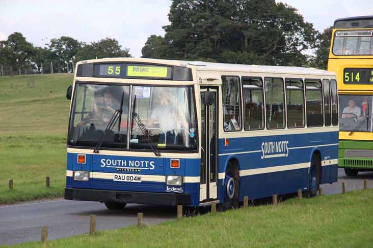
[{"label": "long cream-white roof of the blue South Notts bus", "polygon": [[315,68],[289,67],[289,66],[241,65],[241,64],[211,63],[211,62],[203,62],[203,61],[154,59],[154,58],[99,58],[99,59],[79,61],[77,65],[88,64],[88,63],[112,63],[112,62],[172,65],[172,66],[195,68],[197,71],[255,72],[255,73],[278,73],[278,74],[282,73],[282,74],[335,76],[334,72],[319,70]]}]

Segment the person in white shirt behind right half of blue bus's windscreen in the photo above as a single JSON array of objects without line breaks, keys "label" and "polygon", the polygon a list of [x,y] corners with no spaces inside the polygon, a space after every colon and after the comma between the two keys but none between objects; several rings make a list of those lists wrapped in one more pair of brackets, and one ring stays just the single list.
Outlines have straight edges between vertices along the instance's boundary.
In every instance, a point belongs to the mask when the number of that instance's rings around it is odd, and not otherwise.
[{"label": "person in white shirt behind right half of blue bus's windscreen", "polygon": [[[158,106],[156,106],[150,115],[146,123],[147,128],[157,128],[155,122],[159,123],[159,129],[162,132],[159,135],[158,143],[160,144],[173,144],[175,139],[175,123],[176,123],[176,113],[175,113],[175,103],[172,99],[172,94],[167,89],[163,89],[160,94],[161,101]],[[150,130],[151,131],[151,130]],[[165,139],[166,135],[166,139]]]}]

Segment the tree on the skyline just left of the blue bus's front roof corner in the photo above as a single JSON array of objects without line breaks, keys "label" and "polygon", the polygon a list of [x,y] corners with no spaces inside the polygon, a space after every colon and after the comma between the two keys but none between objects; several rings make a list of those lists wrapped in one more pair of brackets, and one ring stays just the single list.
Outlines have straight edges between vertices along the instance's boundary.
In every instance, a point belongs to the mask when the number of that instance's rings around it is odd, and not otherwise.
[{"label": "tree on the skyline just left of the blue bus's front roof corner", "polygon": [[50,51],[55,54],[57,63],[60,63],[62,68],[65,68],[65,65],[68,65],[69,61],[74,59],[81,47],[82,43],[67,36],[51,39],[49,44]]}]

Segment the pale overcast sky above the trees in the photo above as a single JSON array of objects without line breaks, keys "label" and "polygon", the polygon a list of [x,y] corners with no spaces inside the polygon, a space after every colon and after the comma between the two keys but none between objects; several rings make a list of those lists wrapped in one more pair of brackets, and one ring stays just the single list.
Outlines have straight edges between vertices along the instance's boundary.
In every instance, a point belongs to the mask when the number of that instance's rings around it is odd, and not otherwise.
[{"label": "pale overcast sky above the trees", "polygon": [[[283,0],[298,9],[305,21],[321,31],[335,19],[373,15],[372,0]],[[20,32],[35,46],[49,39],[70,36],[90,43],[109,37],[119,41],[130,54],[141,56],[150,35],[164,35],[171,1],[50,1],[0,0],[0,40]]]}]

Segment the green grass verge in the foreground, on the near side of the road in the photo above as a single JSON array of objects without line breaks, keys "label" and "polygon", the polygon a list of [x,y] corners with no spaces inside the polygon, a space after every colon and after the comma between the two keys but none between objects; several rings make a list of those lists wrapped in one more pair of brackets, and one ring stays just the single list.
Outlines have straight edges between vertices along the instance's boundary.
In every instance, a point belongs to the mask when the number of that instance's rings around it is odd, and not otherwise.
[{"label": "green grass verge in the foreground, on the near side of the road", "polygon": [[[373,190],[290,199],[141,229],[130,226],[51,240],[47,247],[371,247],[372,205]],[[99,221],[98,216],[97,225]]]}]

